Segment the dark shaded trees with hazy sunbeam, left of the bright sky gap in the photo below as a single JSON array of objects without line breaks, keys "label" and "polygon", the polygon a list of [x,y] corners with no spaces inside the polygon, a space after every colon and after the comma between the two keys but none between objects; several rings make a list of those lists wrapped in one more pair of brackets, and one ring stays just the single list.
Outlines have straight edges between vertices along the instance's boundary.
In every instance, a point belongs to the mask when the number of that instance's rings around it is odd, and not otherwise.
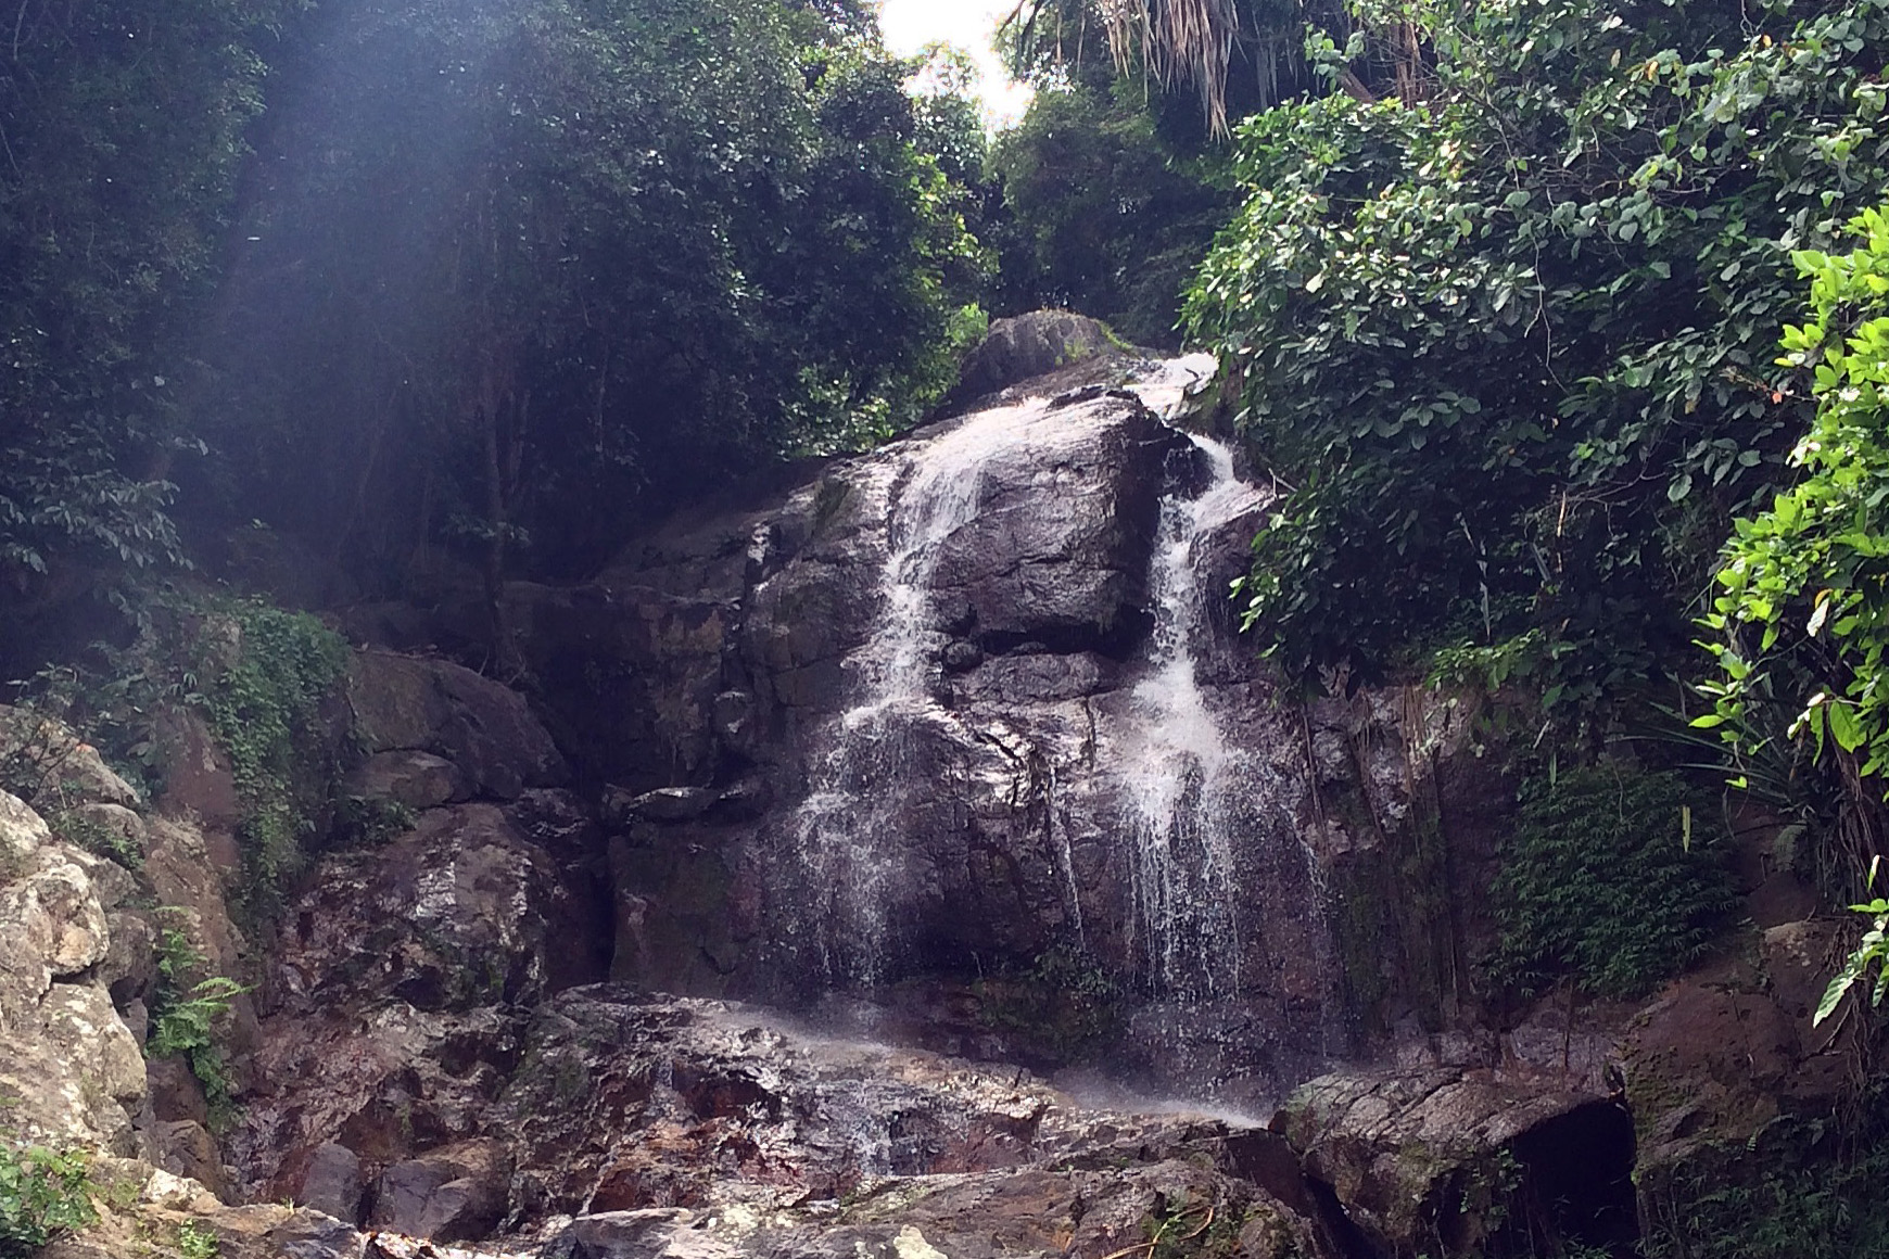
[{"label": "dark shaded trees with hazy sunbeam, left of the bright sky gap", "polygon": [[179,519],[300,536],[357,589],[442,551],[569,568],[718,478],[910,423],[980,327],[982,134],[907,94],[856,4],[17,19],[15,644],[179,564]]}]

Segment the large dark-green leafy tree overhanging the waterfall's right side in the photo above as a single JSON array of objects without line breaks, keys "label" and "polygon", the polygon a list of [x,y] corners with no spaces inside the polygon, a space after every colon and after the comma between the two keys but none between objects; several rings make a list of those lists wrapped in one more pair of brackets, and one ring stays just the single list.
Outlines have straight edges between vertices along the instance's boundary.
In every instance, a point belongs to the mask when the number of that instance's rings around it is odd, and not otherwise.
[{"label": "large dark-green leafy tree overhanging the waterfall's right side", "polygon": [[1239,596],[1307,681],[1511,644],[1587,712],[1685,657],[1725,523],[1802,423],[1770,366],[1787,255],[1889,172],[1889,9],[1407,17],[1413,104],[1245,125],[1247,200],[1188,294],[1281,489]]}]

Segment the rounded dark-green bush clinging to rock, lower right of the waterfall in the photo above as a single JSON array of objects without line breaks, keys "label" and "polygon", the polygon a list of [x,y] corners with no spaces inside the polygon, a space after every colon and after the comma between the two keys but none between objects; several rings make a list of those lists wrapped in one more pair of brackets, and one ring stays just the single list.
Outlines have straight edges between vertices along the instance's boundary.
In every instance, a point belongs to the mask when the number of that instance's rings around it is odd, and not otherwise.
[{"label": "rounded dark-green bush clinging to rock, lower right of the waterfall", "polygon": [[1685,780],[1602,763],[1524,783],[1492,887],[1490,976],[1640,997],[1700,957],[1736,904],[1717,810]]}]

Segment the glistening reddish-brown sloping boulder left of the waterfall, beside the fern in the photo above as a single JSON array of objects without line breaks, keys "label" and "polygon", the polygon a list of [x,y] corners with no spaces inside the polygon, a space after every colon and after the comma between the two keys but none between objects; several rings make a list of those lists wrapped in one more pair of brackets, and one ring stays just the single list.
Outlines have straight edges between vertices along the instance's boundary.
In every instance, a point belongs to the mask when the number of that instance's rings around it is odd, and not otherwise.
[{"label": "glistening reddish-brown sloping boulder left of the waterfall, beside the fern", "polygon": [[[595,825],[561,791],[427,810],[382,848],[325,857],[274,944],[257,1095],[230,1138],[247,1191],[295,1195],[334,1159],[319,1155],[331,1142],[372,1187],[474,1138],[518,1065],[529,1006],[604,970],[597,859]],[[416,1199],[414,1176],[368,1197]],[[451,1217],[484,1219],[485,1204]]]}]

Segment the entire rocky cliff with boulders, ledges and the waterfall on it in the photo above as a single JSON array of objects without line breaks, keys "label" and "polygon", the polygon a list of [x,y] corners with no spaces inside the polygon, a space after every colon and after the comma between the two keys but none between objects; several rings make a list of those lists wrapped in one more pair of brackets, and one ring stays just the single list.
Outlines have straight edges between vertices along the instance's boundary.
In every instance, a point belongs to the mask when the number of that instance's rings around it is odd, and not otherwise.
[{"label": "entire rocky cliff with boulders, ledges and the waterfall on it", "polygon": [[[323,755],[382,825],[247,932],[202,723],[157,806],[9,727],[57,755],[0,795],[0,1123],[117,1185],[55,1251],[1626,1255],[1827,1110],[1836,936],[1762,872],[1651,1004],[1492,1000],[1479,700],[1279,691],[1186,379],[1060,366],[514,583],[518,689],[442,659],[476,606],[349,610]],[[230,1112],[138,1053],[166,931],[249,989]]]}]

